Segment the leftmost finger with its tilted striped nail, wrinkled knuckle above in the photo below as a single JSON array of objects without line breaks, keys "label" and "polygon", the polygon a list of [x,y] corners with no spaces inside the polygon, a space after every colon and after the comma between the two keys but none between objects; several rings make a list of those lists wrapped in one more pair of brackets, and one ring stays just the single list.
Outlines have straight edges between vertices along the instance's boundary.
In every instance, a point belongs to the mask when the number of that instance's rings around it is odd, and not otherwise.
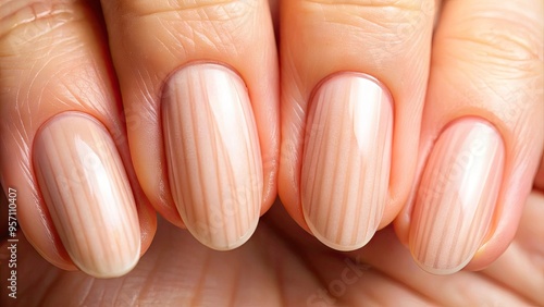
[{"label": "leftmost finger with its tilted striped nail, wrinkled knuckle above", "polygon": [[83,1],[3,1],[0,12],[0,170],[16,218],[50,262],[124,274],[156,221],[131,168],[97,15]]}]

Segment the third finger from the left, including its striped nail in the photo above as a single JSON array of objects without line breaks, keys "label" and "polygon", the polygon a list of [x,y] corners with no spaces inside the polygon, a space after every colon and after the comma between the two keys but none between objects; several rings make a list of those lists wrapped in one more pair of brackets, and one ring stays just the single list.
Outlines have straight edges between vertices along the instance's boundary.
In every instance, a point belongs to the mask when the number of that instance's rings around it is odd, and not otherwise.
[{"label": "third finger from the left, including its striped nail", "polygon": [[363,246],[415,172],[434,1],[282,2],[279,191],[324,244]]}]

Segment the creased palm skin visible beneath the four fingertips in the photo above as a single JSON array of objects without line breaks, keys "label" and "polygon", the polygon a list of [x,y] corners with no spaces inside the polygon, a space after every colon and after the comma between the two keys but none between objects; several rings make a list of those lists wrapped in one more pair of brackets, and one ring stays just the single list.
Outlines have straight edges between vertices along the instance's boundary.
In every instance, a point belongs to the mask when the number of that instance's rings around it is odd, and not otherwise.
[{"label": "creased palm skin visible beneath the four fingertips", "polygon": [[[69,272],[44,260],[20,233],[17,298],[2,306],[542,306],[544,194],[529,197],[508,249],[483,271],[421,270],[391,226],[355,253],[335,253],[276,204],[255,235],[214,251],[164,220],[136,268],[118,279]],[[286,222],[287,221],[287,222]],[[0,259],[8,257],[7,243]],[[2,284],[8,268],[0,267]]]}]

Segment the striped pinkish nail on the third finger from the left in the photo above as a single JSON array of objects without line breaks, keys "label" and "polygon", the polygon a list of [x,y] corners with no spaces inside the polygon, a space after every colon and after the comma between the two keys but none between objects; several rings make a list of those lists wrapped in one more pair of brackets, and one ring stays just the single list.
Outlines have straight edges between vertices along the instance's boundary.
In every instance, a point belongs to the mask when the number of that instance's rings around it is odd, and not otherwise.
[{"label": "striped pinkish nail on the third finger from the left", "polygon": [[393,106],[385,87],[345,73],[316,91],[306,126],[301,200],[306,222],[325,245],[362,247],[385,208]]}]

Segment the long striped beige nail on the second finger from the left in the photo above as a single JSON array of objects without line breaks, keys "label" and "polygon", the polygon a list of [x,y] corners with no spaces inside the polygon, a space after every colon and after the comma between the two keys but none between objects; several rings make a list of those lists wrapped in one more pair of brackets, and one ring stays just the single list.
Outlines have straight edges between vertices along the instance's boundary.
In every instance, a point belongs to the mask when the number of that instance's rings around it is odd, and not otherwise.
[{"label": "long striped beige nail on the second finger from the left", "polygon": [[262,163],[246,86],[230,69],[175,72],[162,98],[173,199],[189,232],[213,249],[245,243],[259,220]]}]

